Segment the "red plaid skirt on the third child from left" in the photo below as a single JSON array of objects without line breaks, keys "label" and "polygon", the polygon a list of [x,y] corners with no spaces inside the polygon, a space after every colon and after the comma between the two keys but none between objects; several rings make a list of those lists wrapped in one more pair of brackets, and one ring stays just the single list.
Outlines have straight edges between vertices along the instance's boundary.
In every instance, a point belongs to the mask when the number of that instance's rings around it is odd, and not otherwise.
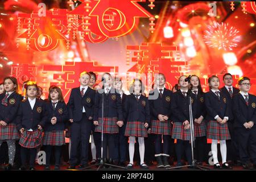
[{"label": "red plaid skirt on the third child from left", "polygon": [[62,146],[65,144],[65,134],[63,130],[44,131],[44,146]]}]

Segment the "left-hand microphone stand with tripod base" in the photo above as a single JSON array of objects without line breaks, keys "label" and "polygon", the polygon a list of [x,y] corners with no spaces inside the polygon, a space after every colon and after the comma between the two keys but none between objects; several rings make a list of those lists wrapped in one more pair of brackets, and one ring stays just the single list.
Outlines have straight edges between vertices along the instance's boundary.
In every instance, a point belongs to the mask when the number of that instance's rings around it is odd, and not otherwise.
[{"label": "left-hand microphone stand with tripod base", "polygon": [[[110,92],[110,90],[109,90],[109,92]],[[100,168],[102,168],[104,166],[111,166],[111,167],[127,169],[126,167],[122,167],[122,166],[117,166],[117,165],[106,163],[103,160],[104,90],[103,90],[103,93],[102,93],[101,112],[102,112],[102,114],[101,114],[102,117],[101,117],[101,158],[100,158],[100,161],[98,163],[96,163],[96,164],[93,164],[93,165],[90,165],[88,167],[82,168],[81,170],[88,169],[88,168],[94,167],[94,166],[98,166],[96,171],[99,171]]]}]

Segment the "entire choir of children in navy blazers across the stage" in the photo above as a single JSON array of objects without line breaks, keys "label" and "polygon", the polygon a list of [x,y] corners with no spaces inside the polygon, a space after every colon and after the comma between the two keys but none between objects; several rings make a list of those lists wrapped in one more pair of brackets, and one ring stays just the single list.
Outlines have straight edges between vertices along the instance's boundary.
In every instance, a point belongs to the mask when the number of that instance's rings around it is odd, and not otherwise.
[{"label": "entire choir of children in navy blazers across the stage", "polygon": [[[82,72],[78,78],[80,86],[71,90],[66,105],[58,86],[51,85],[47,100],[42,100],[42,88],[36,82],[25,81],[21,96],[16,78],[5,77],[0,84],[0,147],[3,142],[7,143],[9,157],[5,170],[13,168],[16,152],[20,153],[20,170],[35,170],[35,158],[42,146],[46,152],[44,169],[51,169],[54,149],[54,169],[59,170],[65,131],[70,138],[68,169],[88,168],[101,159],[105,163],[133,168],[137,142],[138,164],[142,169],[148,168],[144,154],[152,150],[151,146],[154,146],[156,167],[171,167],[174,140],[176,167],[184,165],[184,156],[191,165],[191,122],[197,164],[205,161],[207,139],[212,139],[214,168],[232,169],[232,164],[239,161],[245,169],[256,167],[256,97],[249,93],[250,78],[241,77],[238,88],[234,88],[232,75],[226,73],[225,86],[220,88],[220,78],[211,76],[209,92],[204,93],[196,75],[181,76],[169,90],[165,88],[166,77],[159,73],[148,97],[139,78],[131,83],[130,94],[123,91],[121,78],[113,78],[110,73],[102,75],[102,87],[96,85],[96,80],[95,73]],[[189,117],[189,102],[193,121]],[[152,139],[147,140],[148,137]],[[151,143],[145,144],[145,141]],[[17,142],[20,150],[16,150]],[[89,148],[92,151],[90,163]],[[228,156],[232,164],[228,163]]]}]

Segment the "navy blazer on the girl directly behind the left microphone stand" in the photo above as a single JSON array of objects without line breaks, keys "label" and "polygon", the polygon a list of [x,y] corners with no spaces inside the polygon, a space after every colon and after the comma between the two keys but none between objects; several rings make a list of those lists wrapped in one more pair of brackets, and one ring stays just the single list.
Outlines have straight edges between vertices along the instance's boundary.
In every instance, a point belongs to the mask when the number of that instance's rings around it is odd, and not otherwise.
[{"label": "navy blazer on the girl directly behind the left microphone stand", "polygon": [[93,121],[98,121],[98,118],[102,117],[102,95],[104,97],[104,117],[117,117],[118,121],[123,121],[121,97],[113,87],[110,89],[108,96],[104,89],[100,89],[96,93]]}]

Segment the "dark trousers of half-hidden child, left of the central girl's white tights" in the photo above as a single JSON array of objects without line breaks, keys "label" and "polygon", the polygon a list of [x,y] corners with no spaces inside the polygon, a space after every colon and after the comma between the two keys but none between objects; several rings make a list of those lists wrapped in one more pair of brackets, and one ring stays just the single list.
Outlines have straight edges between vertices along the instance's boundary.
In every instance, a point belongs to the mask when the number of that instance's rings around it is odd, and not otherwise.
[{"label": "dark trousers of half-hidden child, left of the central girl's white tights", "polygon": [[118,151],[119,155],[117,158],[119,159],[119,162],[123,163],[126,162],[126,148],[127,148],[127,143],[128,143],[128,137],[125,137],[125,128],[126,125],[123,125],[122,127],[119,128],[119,134],[118,134]]}]

